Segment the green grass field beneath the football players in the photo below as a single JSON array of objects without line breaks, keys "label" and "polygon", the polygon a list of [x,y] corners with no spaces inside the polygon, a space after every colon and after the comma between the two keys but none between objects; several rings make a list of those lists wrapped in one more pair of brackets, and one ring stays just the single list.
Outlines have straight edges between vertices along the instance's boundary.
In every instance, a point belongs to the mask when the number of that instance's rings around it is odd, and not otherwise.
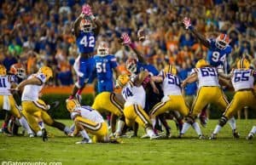
[{"label": "green grass field beneath the football players", "polygon": [[[70,121],[61,120],[68,125]],[[202,128],[209,136],[217,120]],[[172,139],[123,139],[124,143],[75,145],[81,138],[69,138],[55,128],[47,128],[55,137],[43,142],[41,138],[6,137],[0,135],[0,162],[61,162],[61,164],[256,164],[256,137],[246,136],[256,120],[237,121],[240,139],[233,139],[227,124],[217,140],[197,139],[190,128],[183,139],[177,139],[174,122]],[[140,129],[139,135],[143,135]]]}]

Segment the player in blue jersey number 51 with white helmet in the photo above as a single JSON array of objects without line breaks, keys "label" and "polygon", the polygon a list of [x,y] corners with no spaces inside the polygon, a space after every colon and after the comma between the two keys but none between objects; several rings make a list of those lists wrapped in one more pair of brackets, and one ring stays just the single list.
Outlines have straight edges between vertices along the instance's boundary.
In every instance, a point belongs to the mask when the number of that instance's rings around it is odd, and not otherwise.
[{"label": "player in blue jersey number 51 with white helmet", "polygon": [[[94,57],[96,77],[98,81],[98,93],[113,92],[113,70],[119,73],[117,60],[112,54],[108,54],[107,43],[101,43]],[[117,75],[118,76],[118,75]]]}]

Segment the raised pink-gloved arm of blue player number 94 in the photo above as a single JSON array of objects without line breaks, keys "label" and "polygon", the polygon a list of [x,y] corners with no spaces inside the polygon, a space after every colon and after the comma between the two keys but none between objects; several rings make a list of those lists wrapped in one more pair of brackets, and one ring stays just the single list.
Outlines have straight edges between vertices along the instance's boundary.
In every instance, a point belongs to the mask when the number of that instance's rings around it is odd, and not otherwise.
[{"label": "raised pink-gloved arm of blue player number 94", "polygon": [[204,37],[198,31],[195,30],[195,28],[191,25],[191,21],[189,18],[185,17],[183,19],[183,26],[185,27],[185,29],[192,32],[192,34],[194,34],[195,37],[197,37],[203,45],[205,45],[207,48],[210,48],[210,42],[207,40],[206,37]]}]

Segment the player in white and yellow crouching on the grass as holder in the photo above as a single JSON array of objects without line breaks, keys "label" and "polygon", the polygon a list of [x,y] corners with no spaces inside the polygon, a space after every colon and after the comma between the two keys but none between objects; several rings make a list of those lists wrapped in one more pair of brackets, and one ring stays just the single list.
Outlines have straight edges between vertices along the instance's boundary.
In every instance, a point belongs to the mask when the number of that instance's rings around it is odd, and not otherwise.
[{"label": "player in white and yellow crouching on the grass as holder", "polygon": [[[83,137],[82,141],[76,144],[86,143],[119,143],[116,139],[109,139],[108,124],[104,121],[101,114],[92,109],[90,106],[81,106],[78,100],[66,101],[67,111],[70,112],[71,118],[75,122],[75,131],[72,135],[80,133]],[[89,135],[93,134],[91,140]]]}]

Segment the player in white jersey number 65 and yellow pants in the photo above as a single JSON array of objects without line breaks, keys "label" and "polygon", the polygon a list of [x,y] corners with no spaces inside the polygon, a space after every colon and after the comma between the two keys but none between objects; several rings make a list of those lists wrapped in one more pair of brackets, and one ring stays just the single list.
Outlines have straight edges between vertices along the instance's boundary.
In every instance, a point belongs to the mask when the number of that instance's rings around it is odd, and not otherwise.
[{"label": "player in white jersey number 65 and yellow pants", "polygon": [[[210,139],[216,139],[217,134],[226,122],[236,114],[238,110],[248,106],[256,110],[256,94],[253,90],[254,78],[256,71],[249,69],[250,62],[247,59],[241,59],[236,64],[236,69],[231,71],[230,75],[225,75],[224,72],[219,73],[221,77],[231,80],[235,88],[235,95],[230,105],[225,109],[223,116],[219,119],[218,125],[214,129]],[[253,133],[253,129],[251,131]],[[255,128],[254,128],[255,132]],[[248,134],[247,139],[252,139],[253,134]]]}]

